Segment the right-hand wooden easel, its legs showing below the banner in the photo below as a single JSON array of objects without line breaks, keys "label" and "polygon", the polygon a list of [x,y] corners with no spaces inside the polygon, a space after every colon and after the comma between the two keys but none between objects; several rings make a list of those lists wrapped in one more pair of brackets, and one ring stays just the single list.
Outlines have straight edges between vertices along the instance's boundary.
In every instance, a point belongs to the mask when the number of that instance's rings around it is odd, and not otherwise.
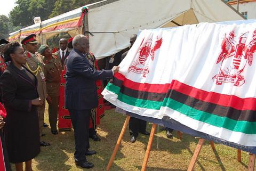
[{"label": "right-hand wooden easel, its legs showing below the banner", "polygon": [[[205,142],[205,139],[199,139],[198,144],[196,145],[196,150],[195,150],[195,152],[193,154],[193,157],[190,161],[190,164],[188,166],[188,171],[193,171],[193,169],[195,167],[195,164],[196,164],[196,160],[199,156],[199,153],[200,153],[200,151],[203,147],[204,142]],[[212,141],[210,143],[211,143],[211,146],[212,146],[212,149],[213,149],[214,144],[213,144]],[[214,147],[214,149],[215,149],[215,147]],[[241,150],[239,150],[239,149],[237,149],[237,160],[241,161]],[[254,171],[254,165],[255,165],[255,154],[250,154],[248,170],[249,171]]]}]

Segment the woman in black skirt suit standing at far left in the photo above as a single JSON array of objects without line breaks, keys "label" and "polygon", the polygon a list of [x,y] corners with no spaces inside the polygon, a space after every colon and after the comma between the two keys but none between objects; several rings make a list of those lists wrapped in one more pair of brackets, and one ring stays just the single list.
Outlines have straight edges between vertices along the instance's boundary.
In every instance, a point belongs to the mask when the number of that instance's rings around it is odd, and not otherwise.
[{"label": "woman in black skirt suit standing at far left", "polygon": [[23,66],[27,56],[18,42],[7,44],[4,52],[5,61],[11,61],[0,78],[2,100],[7,116],[5,141],[10,162],[16,170],[32,171],[31,159],[40,151],[37,106],[42,101],[37,94],[36,77]]}]

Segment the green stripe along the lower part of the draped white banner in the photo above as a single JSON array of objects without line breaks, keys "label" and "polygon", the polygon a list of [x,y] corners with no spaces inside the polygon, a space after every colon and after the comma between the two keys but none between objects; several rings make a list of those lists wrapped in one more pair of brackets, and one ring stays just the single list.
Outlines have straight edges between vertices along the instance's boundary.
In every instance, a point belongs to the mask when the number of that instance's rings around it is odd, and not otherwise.
[{"label": "green stripe along the lower part of the draped white banner", "polygon": [[129,105],[133,105],[135,107],[155,109],[155,110],[159,110],[162,106],[168,107],[190,118],[193,118],[195,120],[198,120],[203,123],[207,123],[216,127],[223,127],[223,128],[229,129],[230,131],[242,132],[245,134],[256,134],[256,122],[250,122],[250,121],[244,121],[244,120],[237,121],[227,117],[213,115],[208,112],[194,109],[192,107],[189,107],[186,104],[177,102],[170,98],[165,98],[163,102],[136,99],[134,97],[130,97],[122,94],[121,92],[119,92],[120,90],[119,87],[110,83],[106,88],[109,91],[117,94],[118,95],[117,99],[119,101],[122,101]]}]

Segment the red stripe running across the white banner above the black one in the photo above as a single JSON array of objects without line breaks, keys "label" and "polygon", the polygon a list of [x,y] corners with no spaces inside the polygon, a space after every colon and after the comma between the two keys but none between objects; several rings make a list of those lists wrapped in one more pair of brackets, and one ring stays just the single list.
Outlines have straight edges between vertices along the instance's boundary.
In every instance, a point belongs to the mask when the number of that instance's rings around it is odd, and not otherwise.
[{"label": "red stripe running across the white banner above the black one", "polygon": [[171,84],[148,84],[148,83],[136,83],[132,80],[125,78],[118,72],[115,77],[123,81],[123,86],[138,91],[146,91],[153,93],[167,93],[169,89],[174,89],[177,92],[186,94],[195,99],[210,102],[225,107],[232,107],[237,110],[256,110],[256,98],[240,98],[235,95],[226,95],[215,92],[207,92],[202,89],[198,89],[183,83],[178,80],[172,80]]}]

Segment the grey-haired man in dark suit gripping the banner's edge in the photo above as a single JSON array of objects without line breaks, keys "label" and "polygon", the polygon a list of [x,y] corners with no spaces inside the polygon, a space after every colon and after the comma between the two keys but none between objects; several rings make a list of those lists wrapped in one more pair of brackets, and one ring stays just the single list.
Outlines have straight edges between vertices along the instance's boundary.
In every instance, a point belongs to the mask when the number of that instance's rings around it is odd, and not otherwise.
[{"label": "grey-haired man in dark suit gripping the banner's edge", "polygon": [[89,121],[91,110],[98,105],[96,80],[113,77],[119,67],[111,70],[95,70],[92,61],[87,59],[89,39],[77,35],[73,39],[73,50],[67,60],[67,79],[65,88],[65,107],[70,112],[75,134],[75,162],[83,168],[94,165],[85,156],[95,154],[89,151]]}]

